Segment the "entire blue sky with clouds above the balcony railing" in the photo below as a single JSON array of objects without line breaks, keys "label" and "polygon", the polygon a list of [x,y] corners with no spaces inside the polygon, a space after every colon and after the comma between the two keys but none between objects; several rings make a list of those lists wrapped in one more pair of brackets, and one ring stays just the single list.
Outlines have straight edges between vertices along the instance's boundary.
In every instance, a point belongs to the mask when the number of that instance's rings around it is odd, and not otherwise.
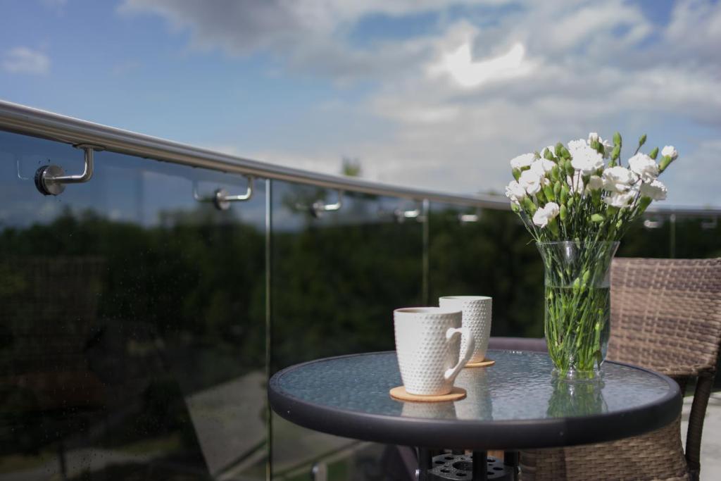
[{"label": "entire blue sky with clouds above the balcony railing", "polygon": [[502,193],[508,161],[614,131],[721,207],[712,0],[0,0],[0,99],[273,164]]}]

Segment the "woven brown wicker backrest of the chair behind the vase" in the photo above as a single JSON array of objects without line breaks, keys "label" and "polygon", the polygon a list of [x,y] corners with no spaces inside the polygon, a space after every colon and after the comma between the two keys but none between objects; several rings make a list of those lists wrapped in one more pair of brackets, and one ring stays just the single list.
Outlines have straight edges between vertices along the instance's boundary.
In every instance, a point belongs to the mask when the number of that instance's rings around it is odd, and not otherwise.
[{"label": "woven brown wicker backrest of the chair behind the vase", "polygon": [[720,341],[721,259],[614,259],[609,359],[688,375]]}]

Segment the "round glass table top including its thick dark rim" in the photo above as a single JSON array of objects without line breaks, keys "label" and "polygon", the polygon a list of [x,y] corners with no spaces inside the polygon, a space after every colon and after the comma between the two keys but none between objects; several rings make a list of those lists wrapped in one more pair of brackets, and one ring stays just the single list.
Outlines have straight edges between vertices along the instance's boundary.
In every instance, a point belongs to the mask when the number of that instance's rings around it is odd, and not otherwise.
[{"label": "round glass table top including its thick dark rim", "polygon": [[458,449],[531,449],[610,441],[653,431],[681,412],[662,374],[606,361],[598,381],[561,381],[545,353],[490,350],[495,366],[466,368],[456,402],[402,402],[395,352],[291,366],[270,379],[270,405],[293,423],[381,443]]}]

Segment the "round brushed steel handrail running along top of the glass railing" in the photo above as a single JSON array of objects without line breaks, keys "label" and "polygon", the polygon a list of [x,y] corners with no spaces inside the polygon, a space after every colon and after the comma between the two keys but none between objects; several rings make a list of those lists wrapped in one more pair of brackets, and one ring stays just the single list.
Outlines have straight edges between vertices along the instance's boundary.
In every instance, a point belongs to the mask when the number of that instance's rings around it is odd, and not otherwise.
[{"label": "round brushed steel handrail running along top of the glass railing", "polygon": [[[292,167],[283,167],[244,157],[221,154],[200,147],[180,144],[163,138],[146,136],[98,123],[79,120],[54,112],[27,107],[0,100],[0,130],[27,136],[48,138],[66,144],[92,144],[118,154],[146,157],[149,159],[185,164],[192,167],[231,172],[235,174],[284,180],[329,189],[360,192],[373,195],[429,200],[461,206],[508,210],[508,199],[502,195],[456,195],[433,190],[400,187],[381,182],[321,174]],[[657,207],[650,212],[676,213],[677,216],[720,215],[721,208]]]}]

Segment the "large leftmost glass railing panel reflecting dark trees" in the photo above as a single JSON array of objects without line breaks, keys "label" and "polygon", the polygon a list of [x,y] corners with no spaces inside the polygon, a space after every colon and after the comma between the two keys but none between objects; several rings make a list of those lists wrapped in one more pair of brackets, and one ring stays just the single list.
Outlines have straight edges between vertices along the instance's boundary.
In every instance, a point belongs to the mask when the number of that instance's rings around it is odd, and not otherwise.
[{"label": "large leftmost glass railing panel reflecting dark trees", "polygon": [[0,133],[0,479],[265,479],[265,199],[241,176]]}]

